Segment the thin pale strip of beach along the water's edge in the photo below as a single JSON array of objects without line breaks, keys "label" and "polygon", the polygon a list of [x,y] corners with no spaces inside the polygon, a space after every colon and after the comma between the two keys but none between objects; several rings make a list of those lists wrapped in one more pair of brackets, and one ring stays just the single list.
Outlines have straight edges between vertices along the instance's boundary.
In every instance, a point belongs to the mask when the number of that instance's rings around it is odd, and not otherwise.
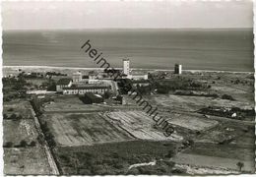
[{"label": "thin pale strip of beach along the water's edge", "polygon": [[[79,67],[55,67],[55,66],[3,66],[3,69],[57,69],[57,70],[98,70],[102,71],[104,68],[79,68]],[[121,70],[122,68],[115,68]],[[132,68],[131,70],[141,70],[141,71],[174,71],[167,69],[153,69],[153,68]],[[243,73],[243,74],[253,74],[254,72],[242,72],[242,71],[228,71],[228,70],[182,70],[184,72],[191,73]]]}]

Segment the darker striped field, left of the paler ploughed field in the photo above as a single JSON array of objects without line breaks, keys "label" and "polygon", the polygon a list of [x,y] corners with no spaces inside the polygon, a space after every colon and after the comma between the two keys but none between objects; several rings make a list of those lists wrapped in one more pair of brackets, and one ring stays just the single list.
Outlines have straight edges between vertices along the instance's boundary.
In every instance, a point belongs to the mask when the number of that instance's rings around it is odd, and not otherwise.
[{"label": "darker striped field, left of the paler ploughed field", "polygon": [[83,146],[132,140],[124,131],[116,129],[100,113],[44,114],[54,140],[60,146]]}]

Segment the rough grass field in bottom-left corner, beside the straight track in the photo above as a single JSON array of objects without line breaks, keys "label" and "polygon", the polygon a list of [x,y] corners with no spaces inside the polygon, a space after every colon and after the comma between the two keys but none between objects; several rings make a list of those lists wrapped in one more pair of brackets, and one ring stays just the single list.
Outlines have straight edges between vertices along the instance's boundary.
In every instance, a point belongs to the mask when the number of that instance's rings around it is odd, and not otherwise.
[{"label": "rough grass field in bottom-left corner, beside the straight track", "polygon": [[43,148],[4,148],[4,174],[51,174]]}]

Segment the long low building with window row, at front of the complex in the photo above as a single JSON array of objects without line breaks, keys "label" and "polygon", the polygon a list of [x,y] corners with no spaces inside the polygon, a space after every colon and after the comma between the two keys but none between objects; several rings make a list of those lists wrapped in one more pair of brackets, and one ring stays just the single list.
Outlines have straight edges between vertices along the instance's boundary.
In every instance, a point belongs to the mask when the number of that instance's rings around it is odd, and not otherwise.
[{"label": "long low building with window row, at front of the complex", "polygon": [[110,87],[108,86],[83,86],[83,87],[76,87],[73,86],[71,88],[63,88],[63,94],[85,94],[87,92],[93,92],[98,94],[103,94],[106,91],[109,91]]}]

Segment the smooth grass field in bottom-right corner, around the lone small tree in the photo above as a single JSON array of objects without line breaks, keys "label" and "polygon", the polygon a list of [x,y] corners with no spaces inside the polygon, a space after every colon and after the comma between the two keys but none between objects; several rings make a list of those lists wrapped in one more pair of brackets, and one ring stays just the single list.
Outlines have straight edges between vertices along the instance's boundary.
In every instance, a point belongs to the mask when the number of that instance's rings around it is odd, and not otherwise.
[{"label": "smooth grass field in bottom-right corner, around the lone small tree", "polygon": [[247,172],[253,172],[255,166],[254,149],[235,146],[197,145],[177,154],[172,160],[176,163],[233,170],[239,170],[236,163],[241,161],[244,163],[242,170]]}]

